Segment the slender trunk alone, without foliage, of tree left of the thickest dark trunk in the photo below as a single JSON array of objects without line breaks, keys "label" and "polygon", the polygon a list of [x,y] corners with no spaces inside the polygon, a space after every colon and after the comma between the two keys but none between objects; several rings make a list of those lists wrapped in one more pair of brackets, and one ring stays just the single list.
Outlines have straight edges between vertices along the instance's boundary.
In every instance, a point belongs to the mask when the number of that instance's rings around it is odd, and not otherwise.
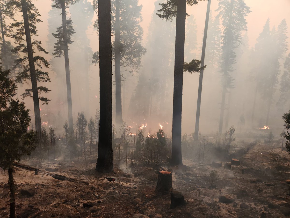
[{"label": "slender trunk alone, without foliage, of tree left of the thickest dark trunk", "polygon": [[65,0],[60,1],[61,4],[61,16],[62,16],[62,31],[64,35],[64,65],[66,67],[66,92],[68,100],[68,128],[70,134],[73,135],[73,103],[72,92],[70,87],[70,63],[68,59],[68,33],[66,30],[66,6]]}]

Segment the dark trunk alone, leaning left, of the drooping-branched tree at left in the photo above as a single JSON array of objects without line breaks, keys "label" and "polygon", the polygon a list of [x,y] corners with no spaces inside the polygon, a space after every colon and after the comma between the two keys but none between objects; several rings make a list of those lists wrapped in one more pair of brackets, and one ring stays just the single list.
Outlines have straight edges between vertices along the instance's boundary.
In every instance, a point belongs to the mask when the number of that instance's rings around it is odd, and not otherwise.
[{"label": "dark trunk alone, leaning left, of the drooping-branched tree at left", "polygon": [[27,14],[27,3],[26,0],[21,0],[28,61],[29,61],[29,70],[32,86],[32,97],[33,97],[33,106],[34,106],[34,118],[35,118],[35,129],[37,131],[37,138],[41,142],[41,119],[40,119],[40,110],[39,110],[39,99],[38,99],[38,90],[37,90],[37,77],[35,73],[33,49],[30,36],[30,28]]}]

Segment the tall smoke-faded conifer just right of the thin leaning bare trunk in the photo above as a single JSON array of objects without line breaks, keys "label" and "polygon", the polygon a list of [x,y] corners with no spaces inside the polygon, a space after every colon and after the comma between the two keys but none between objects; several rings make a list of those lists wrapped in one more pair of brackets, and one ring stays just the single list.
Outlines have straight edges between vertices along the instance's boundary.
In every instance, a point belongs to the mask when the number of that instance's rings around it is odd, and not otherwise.
[{"label": "tall smoke-faded conifer just right of the thin leaning bare trunk", "polygon": [[221,54],[222,101],[219,124],[219,134],[221,134],[224,122],[226,92],[230,92],[229,89],[234,87],[234,79],[231,72],[233,72],[233,65],[236,62],[235,49],[241,44],[242,31],[247,30],[245,17],[250,12],[250,8],[244,3],[244,0],[220,0],[217,11],[224,27]]}]

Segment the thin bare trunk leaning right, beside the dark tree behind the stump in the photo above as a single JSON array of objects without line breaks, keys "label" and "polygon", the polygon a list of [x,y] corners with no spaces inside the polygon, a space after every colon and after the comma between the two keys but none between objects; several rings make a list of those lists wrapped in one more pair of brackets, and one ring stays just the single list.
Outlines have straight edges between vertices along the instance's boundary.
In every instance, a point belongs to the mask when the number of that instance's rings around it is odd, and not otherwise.
[{"label": "thin bare trunk leaning right, beside the dark tree behind the stump", "polygon": [[[206,17],[205,17],[205,25],[204,25],[204,34],[203,34],[203,42],[202,42],[202,53],[201,53],[201,64],[200,64],[200,67],[204,67],[206,37],[207,37],[207,29],[208,29],[208,26],[209,26],[210,8],[211,8],[211,0],[208,0],[207,9],[206,9]],[[202,78],[203,78],[203,69],[200,70],[200,78],[199,78],[199,83],[198,83],[197,106],[196,106],[196,117],[195,117],[195,130],[194,130],[194,138],[193,138],[193,143],[195,145],[197,145],[197,143],[198,143],[201,92],[202,92]]]}]

